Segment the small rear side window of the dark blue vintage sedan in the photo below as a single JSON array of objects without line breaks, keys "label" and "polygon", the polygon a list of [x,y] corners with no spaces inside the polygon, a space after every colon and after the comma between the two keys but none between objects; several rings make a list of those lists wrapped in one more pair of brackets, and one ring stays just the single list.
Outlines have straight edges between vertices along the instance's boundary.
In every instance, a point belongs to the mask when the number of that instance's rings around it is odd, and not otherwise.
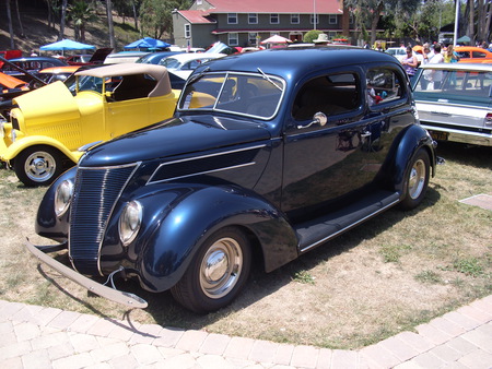
[{"label": "small rear side window of the dark blue vintage sedan", "polygon": [[400,74],[389,68],[372,68],[367,71],[367,105],[373,106],[402,97]]}]

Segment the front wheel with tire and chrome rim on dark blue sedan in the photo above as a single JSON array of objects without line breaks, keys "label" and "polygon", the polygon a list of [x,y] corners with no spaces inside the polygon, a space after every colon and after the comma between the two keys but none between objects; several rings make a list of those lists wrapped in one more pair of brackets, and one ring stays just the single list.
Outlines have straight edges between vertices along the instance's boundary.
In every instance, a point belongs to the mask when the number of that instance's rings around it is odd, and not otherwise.
[{"label": "front wheel with tire and chrome rim on dark blue sedan", "polygon": [[235,227],[226,227],[207,239],[171,291],[191,311],[215,311],[234,300],[249,275],[250,265],[251,250],[246,235]]}]

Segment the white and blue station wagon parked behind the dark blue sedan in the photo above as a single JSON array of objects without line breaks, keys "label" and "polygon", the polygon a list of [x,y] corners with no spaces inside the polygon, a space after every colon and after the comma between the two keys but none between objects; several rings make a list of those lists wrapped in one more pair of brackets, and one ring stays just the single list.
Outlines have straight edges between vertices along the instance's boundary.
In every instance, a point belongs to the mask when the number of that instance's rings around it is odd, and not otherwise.
[{"label": "white and blue station wagon parked behind the dark blue sedan", "polygon": [[492,64],[422,66],[413,96],[435,140],[492,146]]}]

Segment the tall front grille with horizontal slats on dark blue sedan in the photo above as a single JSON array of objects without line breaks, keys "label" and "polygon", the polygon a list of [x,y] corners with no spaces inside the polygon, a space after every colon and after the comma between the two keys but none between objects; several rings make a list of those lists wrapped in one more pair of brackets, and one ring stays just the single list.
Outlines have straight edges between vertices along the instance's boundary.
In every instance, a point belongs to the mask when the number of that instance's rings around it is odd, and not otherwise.
[{"label": "tall front grille with horizontal slats on dark blue sedan", "polygon": [[137,164],[77,170],[70,211],[69,253],[73,267],[82,274],[102,274],[99,250],[116,201]]}]

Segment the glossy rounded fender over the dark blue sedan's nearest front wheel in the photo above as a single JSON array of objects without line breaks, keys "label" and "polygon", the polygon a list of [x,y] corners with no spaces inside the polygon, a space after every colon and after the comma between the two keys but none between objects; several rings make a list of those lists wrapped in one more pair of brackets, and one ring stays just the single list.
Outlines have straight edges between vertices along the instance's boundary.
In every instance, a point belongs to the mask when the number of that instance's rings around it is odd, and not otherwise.
[{"label": "glossy rounded fender over the dark blue sedan's nearest front wheel", "polygon": [[[297,239],[283,214],[265,199],[242,188],[187,188],[152,214],[153,230],[129,253],[136,257],[142,285],[152,291],[174,286],[207,238],[225,226],[247,230],[261,248],[267,272],[297,257]],[[143,206],[152,198],[142,199]]]}]

